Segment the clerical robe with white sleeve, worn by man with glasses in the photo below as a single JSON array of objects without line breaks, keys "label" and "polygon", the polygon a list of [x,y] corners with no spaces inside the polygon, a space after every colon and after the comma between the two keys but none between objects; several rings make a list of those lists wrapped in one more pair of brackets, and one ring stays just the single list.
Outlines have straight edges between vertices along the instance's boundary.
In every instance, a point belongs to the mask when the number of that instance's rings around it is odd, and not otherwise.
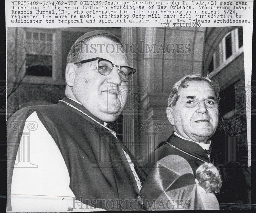
[{"label": "clerical robe with white sleeve, worn by man with glasses", "polygon": [[[82,105],[68,98],[63,100],[103,123]],[[40,131],[45,131],[46,136],[38,138]],[[55,143],[49,143],[47,138],[52,138]],[[58,211],[61,209],[58,206],[75,211],[74,204],[80,201],[86,204],[86,207],[79,205],[80,211],[141,209],[137,201],[139,189],[123,150],[131,157],[143,181],[145,174],[138,168],[137,161],[107,129],[71,106],[59,102],[21,109],[7,121],[7,141],[9,211],[12,197],[21,206],[25,202],[32,209],[41,211]],[[42,160],[43,156],[45,160]],[[58,202],[51,202],[54,197]],[[38,206],[30,205],[30,198],[34,201],[38,198]],[[72,205],[69,203],[66,207],[63,202],[70,198]],[[17,208],[19,203],[15,204]],[[87,206],[92,208],[85,209]]]}]

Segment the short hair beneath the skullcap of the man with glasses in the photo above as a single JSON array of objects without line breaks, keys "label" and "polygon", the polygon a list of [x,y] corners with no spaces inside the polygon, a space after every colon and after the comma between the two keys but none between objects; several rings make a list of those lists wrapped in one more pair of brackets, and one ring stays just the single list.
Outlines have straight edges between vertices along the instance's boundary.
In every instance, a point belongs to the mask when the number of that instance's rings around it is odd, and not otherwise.
[{"label": "short hair beneath the skullcap of the man with glasses", "polygon": [[67,63],[76,63],[79,61],[82,61],[84,59],[84,56],[86,53],[83,52],[83,50],[85,50],[86,48],[86,44],[89,43],[90,40],[92,40],[93,38],[107,38],[110,39],[111,41],[113,41],[116,44],[121,44],[122,42],[120,41],[119,38],[117,38],[116,36],[112,35],[112,34],[99,34],[99,35],[93,35],[91,37],[82,39],[81,41],[76,41],[73,43],[69,53],[68,53],[68,57],[67,57]]}]

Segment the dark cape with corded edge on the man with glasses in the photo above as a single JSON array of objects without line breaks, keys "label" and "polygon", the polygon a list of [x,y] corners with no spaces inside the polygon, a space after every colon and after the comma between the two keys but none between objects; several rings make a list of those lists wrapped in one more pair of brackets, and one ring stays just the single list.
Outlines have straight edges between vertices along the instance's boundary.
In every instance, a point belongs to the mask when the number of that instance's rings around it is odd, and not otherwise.
[{"label": "dark cape with corded edge on the man with glasses", "polygon": [[[82,105],[68,98],[63,100],[104,123],[90,114]],[[145,173],[138,167],[131,152],[104,127],[71,106],[59,102],[55,105],[23,108],[7,121],[8,211],[11,211],[10,192],[13,174],[11,165],[14,165],[19,144],[18,131],[14,131],[11,125],[15,121],[23,121],[19,126],[19,132],[22,132],[27,117],[33,112],[37,113],[39,120],[57,144],[69,172],[69,187],[77,199],[83,197],[84,204],[106,210],[141,209],[137,201],[139,190],[122,148],[131,157],[141,181],[144,180]],[[14,143],[16,146],[10,146]],[[92,199],[96,199],[93,204],[90,202]],[[111,209],[105,205],[107,200],[114,201],[109,202]]]}]

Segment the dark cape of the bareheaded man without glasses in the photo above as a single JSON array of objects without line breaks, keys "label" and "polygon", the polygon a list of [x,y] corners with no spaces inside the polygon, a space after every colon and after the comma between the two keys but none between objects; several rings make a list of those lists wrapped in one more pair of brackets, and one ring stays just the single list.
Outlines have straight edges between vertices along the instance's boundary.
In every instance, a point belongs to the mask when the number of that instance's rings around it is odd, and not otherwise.
[{"label": "dark cape of the bareheaded man without glasses", "polygon": [[[220,171],[222,177],[222,187],[220,194],[217,194],[220,209],[249,209],[250,208],[250,174],[246,169],[242,168],[222,168],[219,165],[225,165],[225,155],[213,147],[214,141],[210,146],[210,159],[206,151],[197,143],[193,141],[184,140],[176,135],[171,135],[167,142],[176,146],[177,148],[205,161],[215,165]],[[182,151],[179,151],[163,141],[159,143],[157,149],[150,154],[148,159],[154,159],[141,165],[145,172],[148,174],[157,161],[169,155],[178,155],[186,159],[193,170],[194,176],[197,168],[203,163],[201,160],[194,158]],[[246,175],[245,175],[246,174]],[[166,177],[158,178],[159,181],[164,181]]]}]

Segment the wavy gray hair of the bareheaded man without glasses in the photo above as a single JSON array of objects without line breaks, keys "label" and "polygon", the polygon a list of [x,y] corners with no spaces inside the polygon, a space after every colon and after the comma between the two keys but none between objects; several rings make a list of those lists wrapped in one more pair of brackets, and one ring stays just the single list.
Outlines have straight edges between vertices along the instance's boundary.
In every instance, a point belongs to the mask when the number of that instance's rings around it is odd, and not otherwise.
[{"label": "wavy gray hair of the bareheaded man without glasses", "polygon": [[210,79],[209,77],[204,77],[202,75],[199,74],[190,74],[190,75],[185,75],[182,79],[180,79],[178,82],[176,82],[176,84],[173,85],[173,88],[171,90],[171,93],[169,95],[168,98],[168,106],[172,107],[175,106],[179,96],[178,96],[178,90],[181,87],[186,88],[188,87],[188,82],[191,81],[206,81],[208,82],[212,88],[214,89],[216,98],[217,98],[217,102],[219,105],[220,102],[220,96],[219,96],[219,92],[220,92],[220,86],[219,84],[214,80],[214,79]]}]

